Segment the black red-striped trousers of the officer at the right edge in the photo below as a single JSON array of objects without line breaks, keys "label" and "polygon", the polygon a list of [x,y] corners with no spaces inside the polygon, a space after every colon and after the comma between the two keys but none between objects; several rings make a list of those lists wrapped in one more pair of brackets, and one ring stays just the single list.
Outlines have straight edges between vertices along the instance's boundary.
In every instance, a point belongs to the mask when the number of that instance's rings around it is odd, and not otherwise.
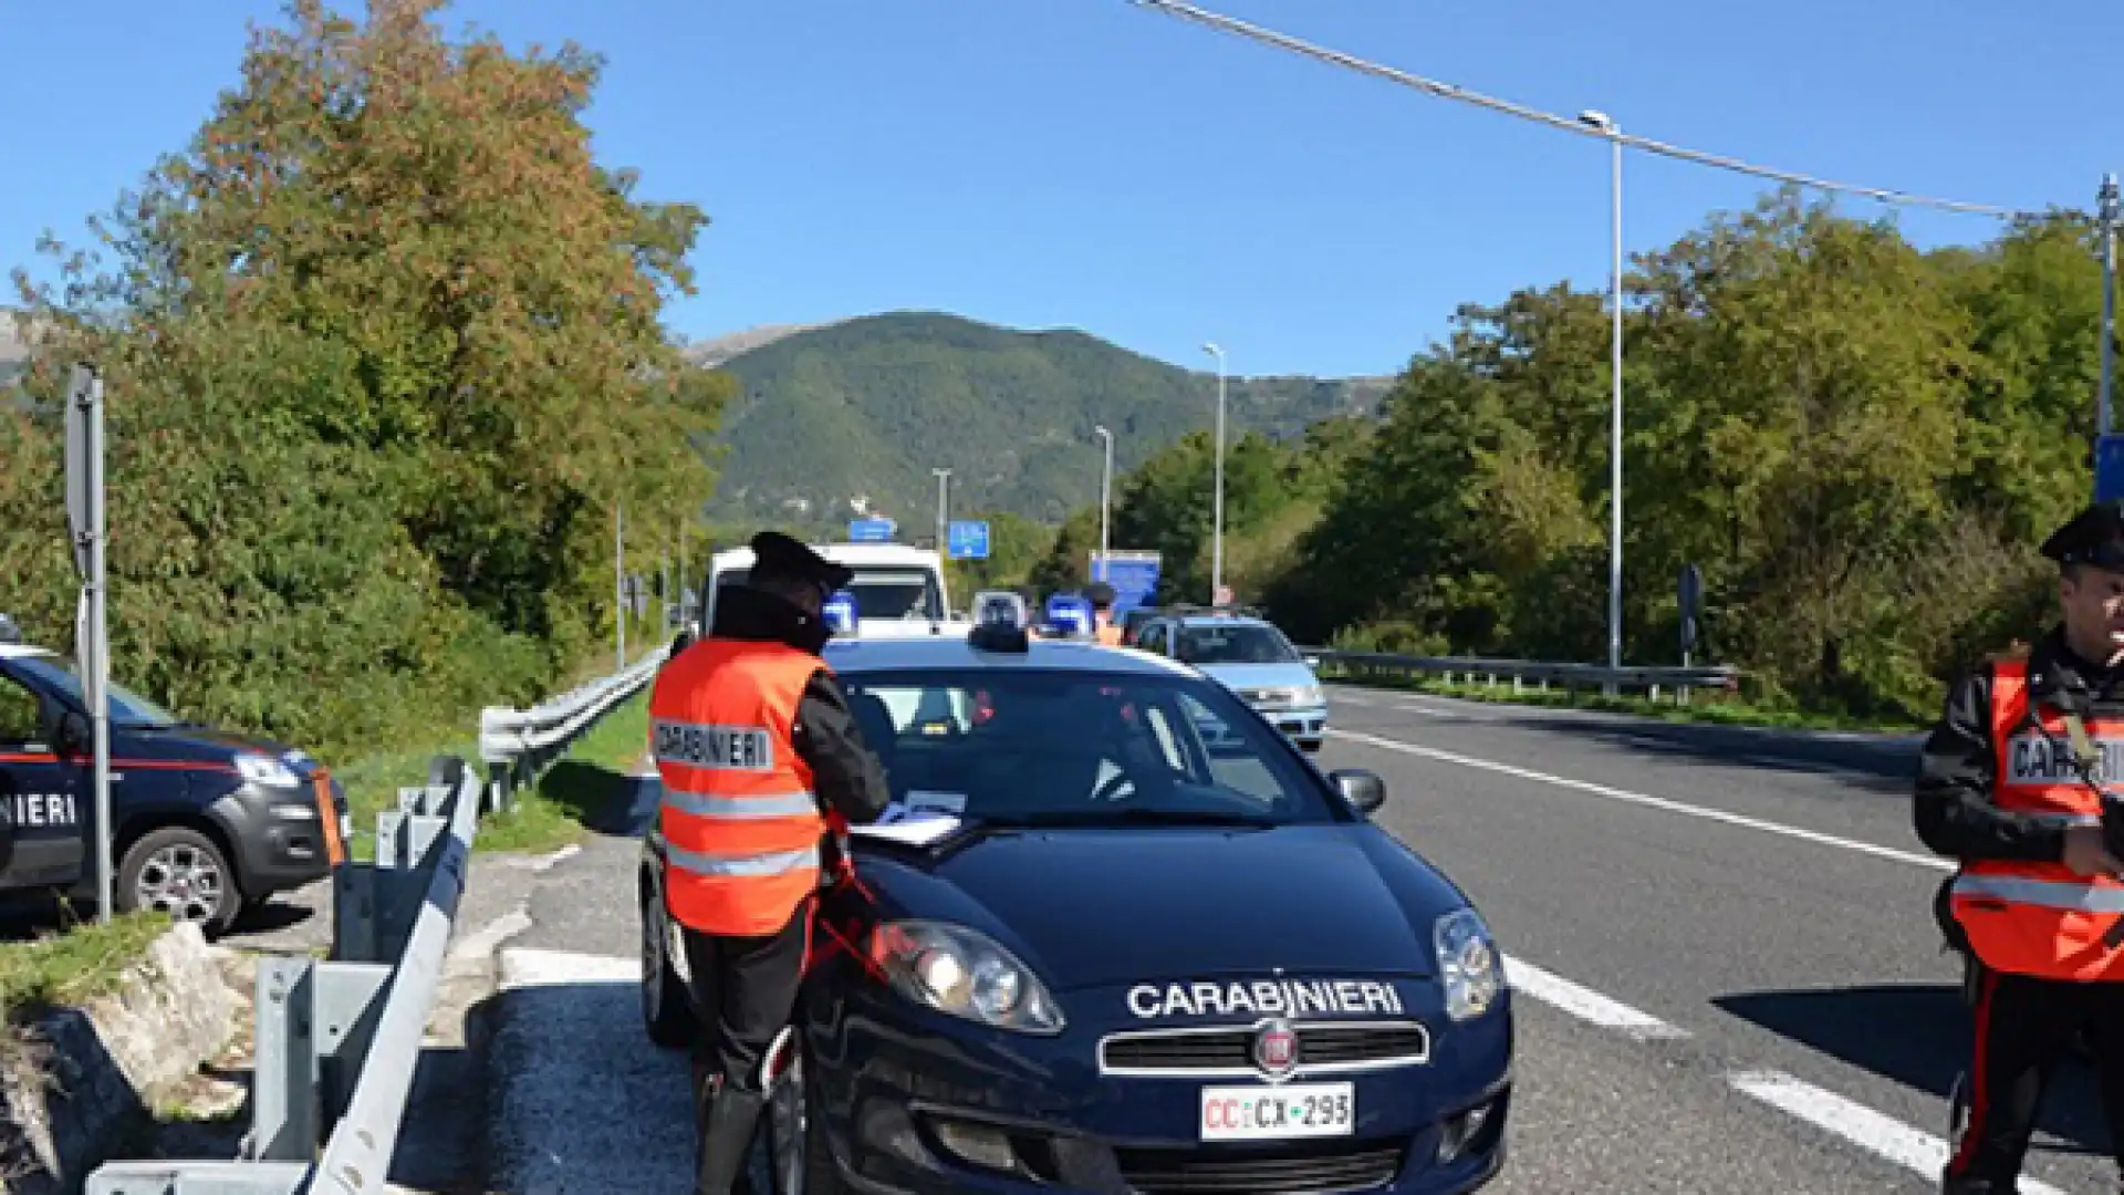
[{"label": "black red-striped trousers of the officer at the right edge", "polygon": [[1975,1057],[1965,1076],[1969,1125],[1948,1178],[2014,1191],[2035,1116],[2058,1063],[2086,1031],[2101,1076],[2103,1112],[2124,1172],[2124,982],[2071,982],[1984,970]]}]

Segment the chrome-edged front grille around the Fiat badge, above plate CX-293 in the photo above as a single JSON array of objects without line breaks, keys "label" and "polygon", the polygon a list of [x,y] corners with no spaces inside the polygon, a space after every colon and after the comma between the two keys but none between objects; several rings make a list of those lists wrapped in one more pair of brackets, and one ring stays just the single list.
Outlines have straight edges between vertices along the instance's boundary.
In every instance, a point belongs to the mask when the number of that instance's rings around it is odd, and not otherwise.
[{"label": "chrome-edged front grille around the Fiat badge, above plate CX-293", "polygon": [[[1432,1057],[1432,1033],[1417,1021],[1311,1021],[1298,1033],[1291,1074],[1332,1074],[1419,1065]],[[1104,1074],[1260,1076],[1253,1063],[1255,1027],[1151,1029],[1111,1033],[1098,1042]]]}]

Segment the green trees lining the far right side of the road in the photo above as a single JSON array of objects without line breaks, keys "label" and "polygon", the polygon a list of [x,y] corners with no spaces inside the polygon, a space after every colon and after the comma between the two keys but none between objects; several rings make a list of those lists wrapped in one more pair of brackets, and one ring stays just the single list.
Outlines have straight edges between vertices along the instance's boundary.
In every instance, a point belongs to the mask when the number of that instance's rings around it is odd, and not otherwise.
[{"label": "green trees lining the far right side of the road", "polygon": [[[2050,621],[2035,544],[2090,491],[2084,213],[1920,251],[1780,191],[1635,255],[1627,293],[1625,659],[1680,663],[1697,563],[1695,661],[1744,674],[1663,717],[1914,725]],[[1383,419],[1228,444],[1226,583],[1308,644],[1606,661],[1608,319],[1570,285],[1468,304]],[[1085,506],[1028,574],[1081,583],[1096,542]],[[1209,436],[1117,478],[1113,546],[1209,600]]]}]

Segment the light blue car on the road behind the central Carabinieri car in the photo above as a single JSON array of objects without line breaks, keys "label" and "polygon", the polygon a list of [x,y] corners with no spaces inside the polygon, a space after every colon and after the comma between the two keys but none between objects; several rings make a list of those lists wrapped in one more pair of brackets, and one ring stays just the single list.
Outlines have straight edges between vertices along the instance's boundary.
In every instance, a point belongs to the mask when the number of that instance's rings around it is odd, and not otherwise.
[{"label": "light blue car on the road behind the central Carabinieri car", "polygon": [[1328,695],[1315,661],[1247,608],[1170,606],[1143,623],[1134,646],[1217,678],[1306,751],[1328,738]]}]

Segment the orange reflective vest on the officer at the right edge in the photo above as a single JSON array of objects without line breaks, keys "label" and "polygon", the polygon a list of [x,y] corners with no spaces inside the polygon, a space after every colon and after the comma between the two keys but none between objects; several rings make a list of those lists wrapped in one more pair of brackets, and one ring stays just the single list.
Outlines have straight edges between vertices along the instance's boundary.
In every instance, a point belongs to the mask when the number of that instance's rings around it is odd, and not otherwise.
[{"label": "orange reflective vest on the officer at the right edge", "polygon": [[[1992,800],[2003,810],[2065,825],[2099,825],[2101,795],[2073,768],[2071,731],[2058,710],[2028,702],[2028,663],[1992,670]],[[2107,746],[2124,723],[2088,721]],[[2107,755],[2107,751],[2105,751]],[[2103,768],[2103,776],[2116,768]],[[2124,980],[2124,880],[2075,876],[2065,863],[1986,859],[1954,878],[1954,919],[1969,948],[1994,972],[2054,980]]]}]

